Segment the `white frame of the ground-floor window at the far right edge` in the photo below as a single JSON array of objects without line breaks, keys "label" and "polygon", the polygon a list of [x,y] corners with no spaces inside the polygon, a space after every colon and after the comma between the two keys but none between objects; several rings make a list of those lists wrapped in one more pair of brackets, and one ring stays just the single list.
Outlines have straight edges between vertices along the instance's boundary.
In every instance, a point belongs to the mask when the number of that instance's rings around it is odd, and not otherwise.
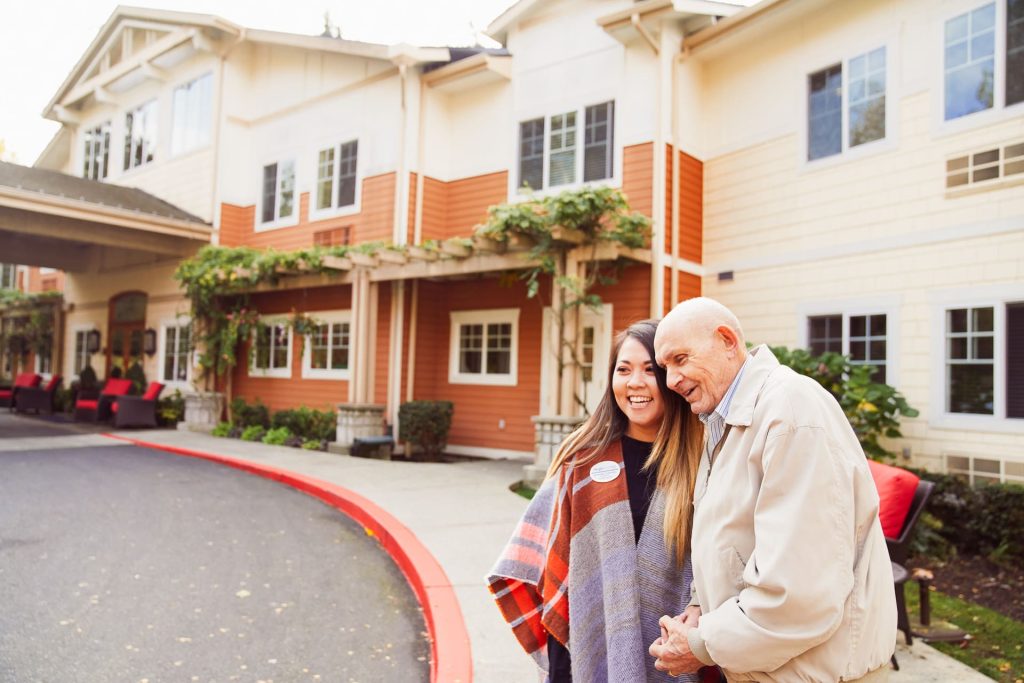
[{"label": "white frame of the ground-floor window at the far right edge", "polygon": [[[993,431],[1024,434],[1024,419],[1007,417],[1007,304],[1024,301],[1024,284],[979,287],[971,290],[944,290],[931,296],[932,305],[932,388],[933,407],[929,425],[939,429]],[[949,413],[946,399],[946,311],[957,308],[991,307],[992,340],[992,415]]]}]

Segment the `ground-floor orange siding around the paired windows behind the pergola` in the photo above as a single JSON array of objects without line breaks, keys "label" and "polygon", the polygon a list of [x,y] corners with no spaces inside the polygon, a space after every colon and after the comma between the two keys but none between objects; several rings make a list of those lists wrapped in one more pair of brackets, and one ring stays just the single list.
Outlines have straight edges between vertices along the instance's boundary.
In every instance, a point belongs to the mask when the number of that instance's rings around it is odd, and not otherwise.
[{"label": "ground-floor orange siding around the paired windows behind the pergola", "polygon": [[[335,311],[352,307],[352,288],[348,285],[315,289],[286,290],[255,294],[253,305],[264,315],[288,314],[292,310]],[[302,340],[292,336],[291,378],[249,377],[249,344],[239,351],[239,365],[232,374],[232,394],[248,402],[259,398],[271,412],[305,405],[317,410],[334,410],[348,400],[346,380],[302,379]]]}]

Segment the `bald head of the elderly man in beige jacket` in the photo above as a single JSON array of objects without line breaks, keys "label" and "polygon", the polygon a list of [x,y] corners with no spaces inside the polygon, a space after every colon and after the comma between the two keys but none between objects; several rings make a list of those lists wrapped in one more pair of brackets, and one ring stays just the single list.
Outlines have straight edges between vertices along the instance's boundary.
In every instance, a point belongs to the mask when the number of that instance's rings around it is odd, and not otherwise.
[{"label": "bald head of the elderly man in beige jacket", "polygon": [[739,321],[707,297],[687,299],[662,319],[654,352],[669,388],[694,413],[715,410],[746,359]]}]

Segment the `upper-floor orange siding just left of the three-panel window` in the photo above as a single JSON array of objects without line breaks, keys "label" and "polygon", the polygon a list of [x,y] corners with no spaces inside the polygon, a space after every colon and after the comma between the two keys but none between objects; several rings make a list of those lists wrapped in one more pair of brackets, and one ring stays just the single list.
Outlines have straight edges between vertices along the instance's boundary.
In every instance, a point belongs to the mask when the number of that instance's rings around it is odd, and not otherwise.
[{"label": "upper-floor orange siding just left of the three-panel window", "polygon": [[508,171],[442,182],[424,178],[423,239],[468,238],[487,209],[508,200]]}]

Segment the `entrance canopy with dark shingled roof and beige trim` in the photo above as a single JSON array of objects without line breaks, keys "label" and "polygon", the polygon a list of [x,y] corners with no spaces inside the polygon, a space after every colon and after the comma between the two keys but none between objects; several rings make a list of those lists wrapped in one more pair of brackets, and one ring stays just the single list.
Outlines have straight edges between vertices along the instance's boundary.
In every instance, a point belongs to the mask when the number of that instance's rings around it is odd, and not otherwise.
[{"label": "entrance canopy with dark shingled roof and beige trim", "polygon": [[110,257],[187,257],[211,232],[141,189],[0,162],[0,261],[82,272]]}]

